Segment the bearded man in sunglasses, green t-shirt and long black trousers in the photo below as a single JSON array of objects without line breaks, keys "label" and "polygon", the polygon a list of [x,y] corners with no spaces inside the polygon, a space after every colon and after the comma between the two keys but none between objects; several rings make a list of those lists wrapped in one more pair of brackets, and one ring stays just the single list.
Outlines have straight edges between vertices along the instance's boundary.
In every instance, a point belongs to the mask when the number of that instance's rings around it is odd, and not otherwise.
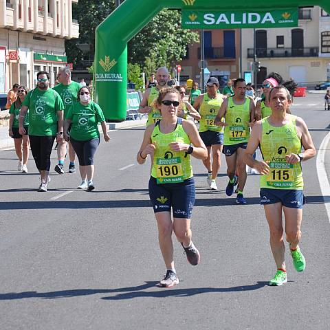
[{"label": "bearded man in sunglasses, green t-shirt and long black trousers", "polygon": [[29,110],[29,138],[36,168],[41,174],[39,191],[47,191],[50,181],[50,154],[56,137],[63,140],[64,105],[57,91],[50,88],[47,72],[38,72],[36,88],[29,91],[22,103],[19,115],[19,133],[25,135],[24,118]]}]

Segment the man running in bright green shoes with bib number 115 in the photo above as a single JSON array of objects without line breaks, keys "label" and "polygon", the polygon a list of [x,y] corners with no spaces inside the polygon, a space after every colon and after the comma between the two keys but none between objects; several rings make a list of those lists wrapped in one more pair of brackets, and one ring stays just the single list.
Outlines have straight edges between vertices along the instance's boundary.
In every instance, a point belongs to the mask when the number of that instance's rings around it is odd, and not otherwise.
[{"label": "man running in bright green shoes with bib number 115", "polygon": [[[297,272],[305,270],[306,261],[298,245],[305,202],[300,162],[314,157],[316,150],[305,121],[286,113],[292,103],[289,91],[281,85],[272,88],[269,102],[272,114],[254,124],[245,162],[261,173],[261,204],[270,228],[270,246],[277,267],[270,285],[282,285],[287,283],[282,211],[294,268]],[[262,162],[252,157],[259,144]]]}]

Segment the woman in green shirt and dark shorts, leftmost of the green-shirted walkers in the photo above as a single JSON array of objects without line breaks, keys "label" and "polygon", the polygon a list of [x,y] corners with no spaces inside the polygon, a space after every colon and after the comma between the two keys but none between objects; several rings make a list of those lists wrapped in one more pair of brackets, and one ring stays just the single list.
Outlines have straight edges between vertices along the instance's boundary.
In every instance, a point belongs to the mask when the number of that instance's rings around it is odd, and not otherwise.
[{"label": "woman in green shirt and dark shorts, leftmost of the green-shirted walkers", "polygon": [[17,91],[18,98],[12,103],[9,113],[9,135],[14,139],[15,151],[17,157],[19,157],[19,164],[17,165],[17,170],[21,170],[23,173],[28,173],[28,159],[29,159],[29,135],[28,135],[28,126],[29,120],[28,116],[24,120],[24,128],[26,131],[25,135],[19,133],[19,111],[21,110],[22,102],[28,94],[28,91],[24,86],[20,86]]}]

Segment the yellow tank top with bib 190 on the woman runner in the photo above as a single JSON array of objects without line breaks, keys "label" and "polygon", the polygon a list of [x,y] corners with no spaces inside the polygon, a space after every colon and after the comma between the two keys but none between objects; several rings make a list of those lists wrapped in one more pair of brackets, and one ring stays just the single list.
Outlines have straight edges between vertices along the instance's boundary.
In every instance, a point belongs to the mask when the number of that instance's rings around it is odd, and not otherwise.
[{"label": "yellow tank top with bib 190 on the woman runner", "polygon": [[168,146],[171,142],[190,144],[181,118],[177,119],[175,130],[167,134],[159,130],[157,122],[151,134],[151,142],[156,147],[151,176],[157,179],[157,184],[176,184],[193,176],[190,155],[185,151],[175,152]]}]

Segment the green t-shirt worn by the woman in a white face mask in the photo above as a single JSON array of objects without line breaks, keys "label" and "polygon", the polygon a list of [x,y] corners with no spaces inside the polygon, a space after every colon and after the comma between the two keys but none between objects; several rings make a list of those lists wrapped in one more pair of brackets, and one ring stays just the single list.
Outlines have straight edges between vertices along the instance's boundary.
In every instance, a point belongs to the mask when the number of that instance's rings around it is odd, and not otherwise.
[{"label": "green t-shirt worn by the woman in a white face mask", "polygon": [[70,136],[77,141],[89,141],[99,137],[98,123],[105,120],[102,109],[93,101],[87,105],[75,102],[67,110],[65,119],[72,121]]}]

